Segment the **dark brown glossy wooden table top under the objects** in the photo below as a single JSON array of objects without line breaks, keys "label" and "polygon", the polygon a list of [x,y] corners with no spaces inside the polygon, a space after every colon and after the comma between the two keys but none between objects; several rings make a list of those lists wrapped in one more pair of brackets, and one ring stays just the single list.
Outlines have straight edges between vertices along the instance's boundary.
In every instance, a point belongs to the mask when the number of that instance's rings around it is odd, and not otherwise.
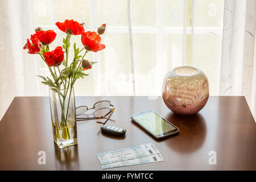
[{"label": "dark brown glossy wooden table top under the objects", "polygon": [[[59,150],[52,137],[48,97],[15,97],[0,122],[0,170],[101,170],[99,152],[152,142],[164,162],[114,170],[256,170],[256,125],[245,97],[209,97],[195,115],[176,115],[161,97],[76,97],[76,105],[110,100],[116,110],[108,124],[127,129],[125,138],[100,132],[96,121],[77,122],[79,144]],[[130,115],[152,109],[179,127],[174,137],[156,140],[131,121]],[[46,152],[46,165],[38,152]],[[217,164],[208,155],[216,151]]]}]

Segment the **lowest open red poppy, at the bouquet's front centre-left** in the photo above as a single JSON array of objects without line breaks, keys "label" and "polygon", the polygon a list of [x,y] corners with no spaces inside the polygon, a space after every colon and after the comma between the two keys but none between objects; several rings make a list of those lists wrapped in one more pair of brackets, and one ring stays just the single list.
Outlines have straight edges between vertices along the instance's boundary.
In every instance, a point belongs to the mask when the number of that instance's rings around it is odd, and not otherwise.
[{"label": "lowest open red poppy, at the bouquet's front centre-left", "polygon": [[64,60],[64,51],[58,46],[53,51],[44,52],[44,58],[49,67],[58,67]]}]

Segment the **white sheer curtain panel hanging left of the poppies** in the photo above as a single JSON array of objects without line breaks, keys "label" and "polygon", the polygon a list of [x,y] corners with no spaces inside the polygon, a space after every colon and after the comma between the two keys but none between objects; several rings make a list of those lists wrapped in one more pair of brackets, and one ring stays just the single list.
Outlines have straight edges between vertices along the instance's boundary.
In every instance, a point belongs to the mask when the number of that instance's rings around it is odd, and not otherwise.
[{"label": "white sheer curtain panel hanging left of the poppies", "polygon": [[40,94],[36,61],[22,49],[33,23],[31,1],[0,1],[0,118],[15,96]]}]

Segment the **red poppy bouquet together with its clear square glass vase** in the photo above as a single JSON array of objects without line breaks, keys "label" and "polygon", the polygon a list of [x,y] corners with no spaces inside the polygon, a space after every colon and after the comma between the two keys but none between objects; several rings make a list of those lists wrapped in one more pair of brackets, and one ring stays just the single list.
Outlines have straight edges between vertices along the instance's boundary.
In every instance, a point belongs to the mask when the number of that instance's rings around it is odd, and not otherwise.
[{"label": "red poppy bouquet together with its clear square glass vase", "polygon": [[[63,46],[58,46],[52,51],[49,44],[56,38],[53,30],[44,31],[40,27],[35,29],[35,34],[31,35],[30,40],[23,49],[28,49],[30,54],[38,54],[44,63],[47,64],[51,78],[39,76],[43,79],[42,83],[49,86],[49,98],[51,106],[53,140],[59,148],[77,144],[76,132],[76,111],[75,96],[73,85],[79,78],[88,76],[85,73],[91,69],[96,62],[84,59],[89,51],[98,52],[105,48],[100,44],[100,35],[104,34],[106,24],[98,27],[97,32],[84,30],[84,24],[71,20],[64,23],[57,22],[56,26],[67,35],[63,38]],[[81,35],[83,48],[77,48],[73,44],[74,57],[68,60],[70,39],[73,35]]]}]

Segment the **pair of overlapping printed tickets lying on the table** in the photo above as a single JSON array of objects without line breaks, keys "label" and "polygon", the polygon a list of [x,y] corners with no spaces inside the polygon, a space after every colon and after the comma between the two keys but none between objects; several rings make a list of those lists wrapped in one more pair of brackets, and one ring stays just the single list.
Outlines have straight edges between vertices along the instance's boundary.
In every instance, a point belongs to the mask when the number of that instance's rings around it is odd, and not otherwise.
[{"label": "pair of overlapping printed tickets lying on the table", "polygon": [[102,169],[162,162],[163,158],[152,143],[96,154]]}]

